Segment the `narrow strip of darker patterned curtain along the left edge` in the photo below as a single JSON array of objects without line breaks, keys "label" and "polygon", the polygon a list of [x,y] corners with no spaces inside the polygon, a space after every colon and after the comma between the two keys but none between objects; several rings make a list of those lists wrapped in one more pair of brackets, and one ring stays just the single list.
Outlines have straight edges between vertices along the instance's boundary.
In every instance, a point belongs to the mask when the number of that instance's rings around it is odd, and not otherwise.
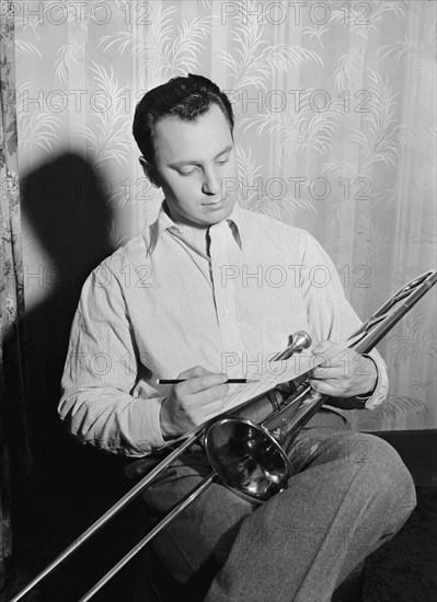
[{"label": "narrow strip of darker patterned curtain along the left edge", "polygon": [[12,467],[22,471],[25,477],[31,468],[21,323],[24,287],[12,4],[1,5],[0,31],[0,586],[3,560],[12,553],[11,479],[23,483],[22,475],[12,474]]}]

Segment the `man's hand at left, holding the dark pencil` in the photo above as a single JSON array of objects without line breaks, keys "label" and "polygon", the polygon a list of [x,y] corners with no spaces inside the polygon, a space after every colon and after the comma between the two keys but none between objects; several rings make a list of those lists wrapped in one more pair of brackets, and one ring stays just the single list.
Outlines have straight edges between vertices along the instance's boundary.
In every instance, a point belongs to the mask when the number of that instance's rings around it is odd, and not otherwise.
[{"label": "man's hand at left, holding the dark pencil", "polygon": [[220,414],[222,398],[229,390],[226,374],[208,372],[202,366],[185,370],[177,378],[185,380],[172,386],[161,405],[160,426],[164,439],[184,435]]}]

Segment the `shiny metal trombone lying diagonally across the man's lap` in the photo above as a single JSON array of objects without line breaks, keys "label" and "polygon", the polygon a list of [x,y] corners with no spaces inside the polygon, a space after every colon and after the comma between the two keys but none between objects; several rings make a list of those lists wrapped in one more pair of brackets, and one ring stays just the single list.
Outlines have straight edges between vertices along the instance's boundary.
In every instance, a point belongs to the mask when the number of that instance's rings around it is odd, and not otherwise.
[{"label": "shiny metal trombone lying diagonally across the man's lap", "polygon": [[[377,310],[349,338],[349,347],[359,354],[370,351],[415,303],[437,282],[437,270],[411,280]],[[311,344],[306,333],[294,335],[290,345],[274,360],[287,359]],[[277,389],[258,395],[232,410],[216,416],[191,431],[182,443],[157,464],[156,460],[134,463],[131,476],[141,478],[120,500],[74,540],[59,556],[25,586],[10,602],[19,602],[47,575],[71,556],[106,522],[134,500],[158,475],[194,443],[203,440],[212,471],[189,491],[133,549],[126,554],[79,602],[87,602],[120,570],[145,545],[163,531],[212,482],[220,481],[237,495],[253,503],[263,503],[287,486],[294,474],[289,461],[292,443],[306,422],[329,401],[311,389],[304,375],[290,382],[288,396]],[[166,449],[166,448],[165,448]]]}]

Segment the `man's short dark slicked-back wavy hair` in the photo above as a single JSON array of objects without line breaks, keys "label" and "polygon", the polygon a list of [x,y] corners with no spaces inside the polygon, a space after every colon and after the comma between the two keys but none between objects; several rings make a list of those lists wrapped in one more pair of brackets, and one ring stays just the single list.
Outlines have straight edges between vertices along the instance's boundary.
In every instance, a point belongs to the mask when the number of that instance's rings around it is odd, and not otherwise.
[{"label": "man's short dark slicked-back wavy hair", "polygon": [[176,116],[194,121],[211,104],[218,105],[233,130],[233,112],[225,92],[203,76],[188,73],[186,78],[172,78],[147,92],[137,104],[134,117],[134,138],[146,161],[156,167],[154,128],[159,119]]}]

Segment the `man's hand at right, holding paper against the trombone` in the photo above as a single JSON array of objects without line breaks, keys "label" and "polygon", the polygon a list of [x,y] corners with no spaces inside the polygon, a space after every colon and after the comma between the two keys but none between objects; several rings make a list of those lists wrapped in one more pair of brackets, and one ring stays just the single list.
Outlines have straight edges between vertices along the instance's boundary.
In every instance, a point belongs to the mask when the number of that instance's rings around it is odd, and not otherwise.
[{"label": "man's hand at right, holding paper against the trombone", "polygon": [[313,347],[314,355],[336,352],[310,372],[314,391],[331,397],[355,397],[373,391],[378,379],[377,368],[370,358],[344,347],[344,344],[323,340]]}]

